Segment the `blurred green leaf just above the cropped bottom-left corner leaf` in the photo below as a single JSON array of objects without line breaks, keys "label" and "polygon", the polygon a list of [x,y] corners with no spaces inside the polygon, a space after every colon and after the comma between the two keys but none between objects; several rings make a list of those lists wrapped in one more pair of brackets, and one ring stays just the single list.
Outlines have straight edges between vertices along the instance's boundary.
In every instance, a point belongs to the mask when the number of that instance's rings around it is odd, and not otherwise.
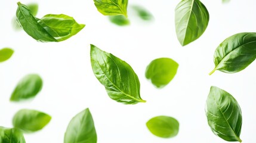
[{"label": "blurred green leaf just above the cropped bottom-left corner leaf", "polygon": [[22,109],[13,117],[13,126],[30,133],[41,130],[51,120],[51,116],[41,111]]}]

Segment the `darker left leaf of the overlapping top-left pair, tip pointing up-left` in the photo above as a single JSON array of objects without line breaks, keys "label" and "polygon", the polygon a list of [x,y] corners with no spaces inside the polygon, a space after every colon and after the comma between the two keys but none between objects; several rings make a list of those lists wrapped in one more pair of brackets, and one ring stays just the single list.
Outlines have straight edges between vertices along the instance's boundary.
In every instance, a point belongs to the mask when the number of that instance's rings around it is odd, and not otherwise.
[{"label": "darker left leaf of the overlapping top-left pair, tip pointing up-left", "polygon": [[38,24],[38,21],[35,17],[33,17],[31,11],[26,5],[23,5],[20,2],[17,4],[17,21],[29,36],[41,42],[57,42],[57,40],[54,39],[53,36],[47,32],[47,30]]}]

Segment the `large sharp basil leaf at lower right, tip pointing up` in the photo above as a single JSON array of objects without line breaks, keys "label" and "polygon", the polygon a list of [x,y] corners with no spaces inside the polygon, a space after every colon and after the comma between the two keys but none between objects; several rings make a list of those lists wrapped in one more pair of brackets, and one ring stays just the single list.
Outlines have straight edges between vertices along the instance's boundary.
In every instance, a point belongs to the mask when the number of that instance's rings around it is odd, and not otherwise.
[{"label": "large sharp basil leaf at lower right, tip pointing up", "polygon": [[215,135],[226,141],[239,141],[242,113],[238,102],[228,92],[211,86],[206,100],[205,112],[208,125]]}]

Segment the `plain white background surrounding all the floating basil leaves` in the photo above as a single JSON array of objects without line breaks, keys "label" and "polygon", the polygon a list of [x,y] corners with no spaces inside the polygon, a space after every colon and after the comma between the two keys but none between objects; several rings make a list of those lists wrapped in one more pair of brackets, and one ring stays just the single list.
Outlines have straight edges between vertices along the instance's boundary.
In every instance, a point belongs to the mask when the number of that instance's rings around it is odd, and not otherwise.
[{"label": "plain white background surrounding all the floating basil leaves", "polygon": [[[255,32],[256,1],[202,0],[208,8],[208,27],[198,40],[182,47],[177,40],[174,10],[180,1],[130,0],[155,17],[143,23],[130,15],[131,25],[118,27],[100,14],[92,0],[21,1],[39,4],[37,17],[66,14],[86,24],[77,35],[60,43],[40,43],[24,31],[13,30],[11,20],[17,1],[1,1],[0,48],[15,50],[10,60],[0,63],[0,126],[12,127],[12,117],[21,108],[44,111],[53,118],[44,129],[25,134],[27,143],[63,142],[69,121],[90,108],[98,143],[226,142],[211,132],[205,116],[205,101],[212,85],[226,90],[242,108],[243,142],[256,142],[256,63],[239,73],[215,71],[215,48],[239,32]],[[129,15],[129,13],[128,13]],[[111,100],[104,86],[95,78],[90,63],[90,43],[127,61],[141,83],[141,98],[146,103],[124,105]],[[156,89],[144,77],[155,58],[169,57],[180,65],[174,79],[163,89]],[[26,74],[38,73],[44,80],[42,91],[29,102],[9,101],[17,82]],[[155,116],[171,116],[180,122],[175,138],[158,138],[146,128]]]}]

